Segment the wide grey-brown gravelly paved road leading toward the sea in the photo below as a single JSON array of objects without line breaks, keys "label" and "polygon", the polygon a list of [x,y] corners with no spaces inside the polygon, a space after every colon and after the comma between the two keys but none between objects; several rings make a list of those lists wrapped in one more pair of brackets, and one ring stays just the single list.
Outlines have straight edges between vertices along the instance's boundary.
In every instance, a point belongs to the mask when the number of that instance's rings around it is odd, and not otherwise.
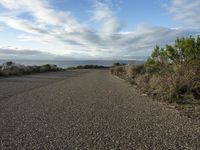
[{"label": "wide grey-brown gravelly paved road leading toward the sea", "polygon": [[200,122],[108,70],[0,79],[0,149],[199,150]]}]

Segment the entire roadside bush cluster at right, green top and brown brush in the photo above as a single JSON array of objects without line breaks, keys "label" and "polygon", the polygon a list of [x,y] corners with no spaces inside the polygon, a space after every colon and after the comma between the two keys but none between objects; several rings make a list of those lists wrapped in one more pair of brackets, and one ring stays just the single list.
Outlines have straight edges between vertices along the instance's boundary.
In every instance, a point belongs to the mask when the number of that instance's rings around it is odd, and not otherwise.
[{"label": "entire roadside bush cluster at right, green top and brown brush", "polygon": [[176,103],[200,100],[200,37],[178,38],[164,48],[156,46],[144,65],[120,67],[112,68],[111,73],[123,73],[159,99]]}]

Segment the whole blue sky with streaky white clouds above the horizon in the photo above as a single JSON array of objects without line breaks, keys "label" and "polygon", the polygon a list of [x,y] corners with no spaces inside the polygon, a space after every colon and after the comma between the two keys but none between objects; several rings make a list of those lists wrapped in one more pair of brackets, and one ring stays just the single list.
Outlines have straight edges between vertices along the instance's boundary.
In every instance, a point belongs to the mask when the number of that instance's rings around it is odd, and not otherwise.
[{"label": "whole blue sky with streaky white clouds above the horizon", "polygon": [[200,35],[200,0],[0,0],[0,59],[146,59]]}]

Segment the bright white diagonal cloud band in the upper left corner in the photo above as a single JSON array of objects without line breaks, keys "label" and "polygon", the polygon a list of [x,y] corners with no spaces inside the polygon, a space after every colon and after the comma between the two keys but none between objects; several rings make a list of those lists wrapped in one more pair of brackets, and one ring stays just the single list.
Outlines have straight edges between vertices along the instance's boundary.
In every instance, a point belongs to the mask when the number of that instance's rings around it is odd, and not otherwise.
[{"label": "bright white diagonal cloud band in the upper left corner", "polygon": [[52,9],[47,0],[1,0],[0,4],[12,11],[30,13],[37,23],[43,25],[62,26],[67,31],[81,27],[69,11]]}]

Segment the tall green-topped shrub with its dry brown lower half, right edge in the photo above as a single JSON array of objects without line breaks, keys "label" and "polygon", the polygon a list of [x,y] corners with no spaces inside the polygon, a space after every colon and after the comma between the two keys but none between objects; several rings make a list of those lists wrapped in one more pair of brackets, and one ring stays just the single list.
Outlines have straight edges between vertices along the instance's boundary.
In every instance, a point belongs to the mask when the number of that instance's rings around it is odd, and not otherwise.
[{"label": "tall green-topped shrub with its dry brown lower half, right edge", "polygon": [[185,102],[190,95],[192,99],[199,99],[200,37],[178,38],[174,46],[166,45],[165,48],[156,46],[145,63],[145,70],[153,74],[150,89],[163,98]]}]

